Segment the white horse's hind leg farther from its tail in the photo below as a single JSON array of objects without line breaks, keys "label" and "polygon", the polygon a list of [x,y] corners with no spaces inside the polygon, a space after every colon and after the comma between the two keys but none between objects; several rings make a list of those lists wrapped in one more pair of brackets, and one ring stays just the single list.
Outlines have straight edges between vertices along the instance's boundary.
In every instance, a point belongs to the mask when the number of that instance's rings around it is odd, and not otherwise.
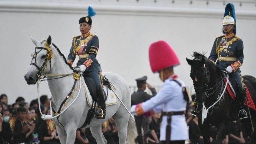
[{"label": "white horse's hind leg farther from its tail", "polygon": [[103,136],[101,124],[98,126],[90,127],[92,136],[95,138],[97,144],[107,144],[106,138]]}]

